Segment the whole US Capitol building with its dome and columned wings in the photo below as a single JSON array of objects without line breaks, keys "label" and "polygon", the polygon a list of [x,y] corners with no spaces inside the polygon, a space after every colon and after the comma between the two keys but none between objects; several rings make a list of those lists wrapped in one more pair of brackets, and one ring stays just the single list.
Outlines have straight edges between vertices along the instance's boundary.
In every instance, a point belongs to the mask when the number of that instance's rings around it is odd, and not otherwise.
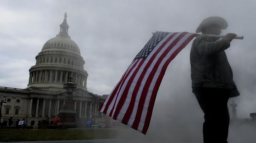
[{"label": "whole US Capitol building with its dome and columned wings", "polygon": [[105,118],[98,108],[107,95],[96,95],[87,90],[88,73],[84,70],[84,59],[78,45],[68,35],[68,28],[65,13],[59,34],[49,39],[35,56],[36,63],[29,69],[25,89],[0,87],[0,100],[6,99],[1,122],[10,117],[14,121],[26,118],[28,125],[47,117],[52,121],[64,103],[66,90],[63,84],[68,77],[73,78],[77,87],[73,92],[76,123],[85,123],[90,115],[96,122]]}]

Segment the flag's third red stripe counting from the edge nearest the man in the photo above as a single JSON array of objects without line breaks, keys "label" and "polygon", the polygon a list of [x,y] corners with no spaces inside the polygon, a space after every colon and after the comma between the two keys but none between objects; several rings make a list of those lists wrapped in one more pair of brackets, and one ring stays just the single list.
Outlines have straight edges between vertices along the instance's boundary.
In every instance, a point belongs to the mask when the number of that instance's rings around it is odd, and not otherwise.
[{"label": "flag's third red stripe counting from the edge nearest the man", "polygon": [[[148,70],[148,67],[151,65],[151,63],[153,62],[153,60],[155,59],[155,57],[157,56],[157,54],[160,52],[160,50],[163,49],[163,47],[167,44],[167,42],[169,42],[173,36],[175,36],[177,33],[174,33],[172,34],[171,36],[169,36],[165,42],[163,42],[162,45],[160,45],[160,47],[156,50],[156,52],[152,55],[152,57],[148,60],[148,63],[145,65],[142,73],[140,74],[140,77],[138,79],[138,81],[136,82],[136,85],[134,87],[134,90],[133,90],[133,93],[131,95],[131,102],[128,106],[128,109],[127,111],[125,112],[125,115],[124,115],[124,118],[122,119],[122,123],[128,123],[129,119],[130,119],[130,116],[131,116],[131,113],[132,113],[132,110],[134,108],[134,104],[135,104],[135,100],[136,100],[136,96],[137,96],[137,92],[140,88],[140,84],[141,84],[141,81],[143,80],[143,77],[145,76],[145,73],[146,71]],[[113,118],[113,119],[116,119],[116,118]],[[132,127],[133,128],[133,127]]]}]

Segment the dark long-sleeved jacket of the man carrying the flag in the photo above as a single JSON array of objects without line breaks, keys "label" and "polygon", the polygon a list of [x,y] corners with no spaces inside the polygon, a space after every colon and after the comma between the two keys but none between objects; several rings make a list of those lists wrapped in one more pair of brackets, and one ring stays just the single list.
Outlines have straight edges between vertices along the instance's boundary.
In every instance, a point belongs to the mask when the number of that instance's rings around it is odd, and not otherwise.
[{"label": "dark long-sleeved jacket of the man carrying the flag", "polygon": [[192,43],[190,51],[192,87],[231,89],[230,97],[238,96],[233,72],[224,50],[230,47],[227,39],[200,35]]}]

